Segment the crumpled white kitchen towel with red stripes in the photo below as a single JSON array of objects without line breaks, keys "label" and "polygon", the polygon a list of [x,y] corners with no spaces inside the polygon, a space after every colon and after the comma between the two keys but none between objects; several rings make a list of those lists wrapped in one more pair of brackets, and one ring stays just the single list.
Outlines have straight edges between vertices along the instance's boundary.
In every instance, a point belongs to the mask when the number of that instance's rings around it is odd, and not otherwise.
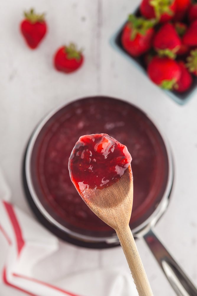
[{"label": "crumpled white kitchen towel with red stripes", "polygon": [[[58,253],[58,239],[39,223],[9,202],[9,187],[0,172],[0,246],[3,260],[0,284],[32,296],[137,296],[131,275],[117,268],[90,268],[69,274],[59,273],[59,266],[51,260],[50,268],[56,278],[50,282],[39,279],[40,261]],[[62,261],[69,260],[69,252]],[[87,265],[86,265],[87,267]],[[35,274],[37,270],[37,274]],[[58,277],[59,276],[59,277]],[[10,288],[9,288],[10,289]],[[9,290],[10,291],[10,290]],[[9,295],[9,292],[6,292]],[[18,295],[18,294],[17,294]],[[20,294],[19,294],[20,295]],[[5,296],[5,293],[0,296]]]}]

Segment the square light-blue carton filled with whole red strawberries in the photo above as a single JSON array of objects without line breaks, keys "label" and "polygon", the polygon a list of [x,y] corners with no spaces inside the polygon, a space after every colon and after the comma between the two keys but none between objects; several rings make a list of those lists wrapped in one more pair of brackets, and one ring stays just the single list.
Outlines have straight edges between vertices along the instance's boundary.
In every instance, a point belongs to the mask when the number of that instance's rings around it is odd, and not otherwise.
[{"label": "square light-blue carton filled with whole red strawberries", "polygon": [[196,90],[197,3],[142,0],[110,43],[175,102]]}]

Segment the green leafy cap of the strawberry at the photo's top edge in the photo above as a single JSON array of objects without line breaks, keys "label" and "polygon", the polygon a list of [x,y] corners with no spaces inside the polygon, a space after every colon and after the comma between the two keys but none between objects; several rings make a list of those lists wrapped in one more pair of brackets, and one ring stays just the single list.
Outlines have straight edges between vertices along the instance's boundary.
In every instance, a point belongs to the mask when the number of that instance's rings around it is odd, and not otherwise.
[{"label": "green leafy cap of the strawberry at the photo's top edge", "polygon": [[157,20],[160,20],[164,13],[173,15],[174,12],[170,9],[170,5],[174,0],[151,0],[149,3],[153,7]]}]

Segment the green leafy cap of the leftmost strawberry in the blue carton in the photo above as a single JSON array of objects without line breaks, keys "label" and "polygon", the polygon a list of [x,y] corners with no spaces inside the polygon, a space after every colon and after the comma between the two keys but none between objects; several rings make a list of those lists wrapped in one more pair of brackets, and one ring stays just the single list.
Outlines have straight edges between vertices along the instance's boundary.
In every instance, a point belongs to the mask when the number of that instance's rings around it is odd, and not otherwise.
[{"label": "green leafy cap of the leftmost strawberry in the blue carton", "polygon": [[135,15],[129,15],[128,23],[132,29],[131,40],[136,38],[137,33],[145,35],[147,30],[153,28],[156,24],[155,19],[146,20],[143,17],[136,17]]}]

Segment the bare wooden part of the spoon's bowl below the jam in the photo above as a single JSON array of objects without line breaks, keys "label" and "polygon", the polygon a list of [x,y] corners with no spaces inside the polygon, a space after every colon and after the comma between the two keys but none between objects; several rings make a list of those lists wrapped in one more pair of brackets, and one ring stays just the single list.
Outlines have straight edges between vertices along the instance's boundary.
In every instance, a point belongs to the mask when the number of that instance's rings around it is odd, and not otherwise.
[{"label": "bare wooden part of the spoon's bowl below the jam", "polygon": [[133,205],[133,176],[131,165],[124,175],[110,187],[86,188],[80,195],[88,207],[115,231],[126,227],[131,218]]}]

